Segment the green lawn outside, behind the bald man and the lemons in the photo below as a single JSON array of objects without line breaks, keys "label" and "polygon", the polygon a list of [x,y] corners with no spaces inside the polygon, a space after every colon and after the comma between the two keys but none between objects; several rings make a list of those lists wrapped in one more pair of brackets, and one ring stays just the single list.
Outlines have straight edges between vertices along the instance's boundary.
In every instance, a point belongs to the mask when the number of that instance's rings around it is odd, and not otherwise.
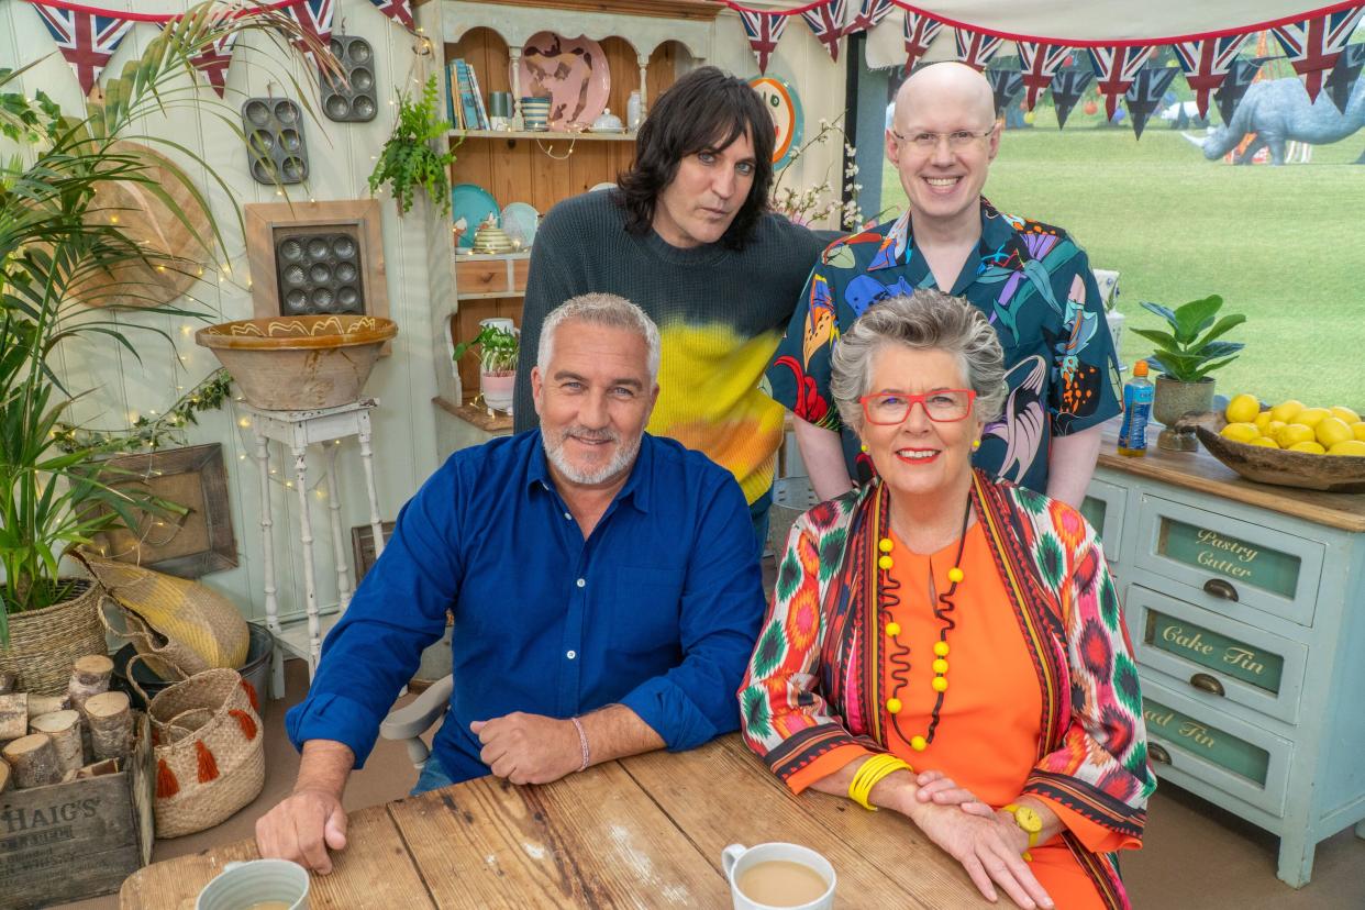
[{"label": "green lawn outside, behind the bald man and the lemons", "polygon": [[[1041,123],[1051,123],[1051,113]],[[1238,168],[1205,161],[1156,121],[1132,130],[1039,127],[1005,134],[986,195],[1003,211],[1066,228],[1091,263],[1117,269],[1129,326],[1138,303],[1220,293],[1248,321],[1246,349],[1219,392],[1267,401],[1365,407],[1365,131],[1313,150],[1313,162]],[[905,192],[890,166],[883,207]],[[1151,352],[1125,336],[1122,357]]]}]

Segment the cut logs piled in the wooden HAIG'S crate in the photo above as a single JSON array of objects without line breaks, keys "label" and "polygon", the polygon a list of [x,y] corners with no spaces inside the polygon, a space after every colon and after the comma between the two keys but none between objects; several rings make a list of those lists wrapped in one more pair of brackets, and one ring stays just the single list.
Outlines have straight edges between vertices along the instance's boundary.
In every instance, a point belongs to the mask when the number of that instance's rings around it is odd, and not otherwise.
[{"label": "cut logs piled in the wooden HAIG'S crate", "polygon": [[81,658],[64,696],[14,692],[0,671],[0,793],[115,774],[132,754],[128,696],[109,692],[113,662]]}]

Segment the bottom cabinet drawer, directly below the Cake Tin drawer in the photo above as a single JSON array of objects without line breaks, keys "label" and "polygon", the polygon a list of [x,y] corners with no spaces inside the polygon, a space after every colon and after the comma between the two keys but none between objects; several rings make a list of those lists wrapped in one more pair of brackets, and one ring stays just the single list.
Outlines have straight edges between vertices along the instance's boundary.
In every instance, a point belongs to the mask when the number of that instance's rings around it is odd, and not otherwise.
[{"label": "bottom cabinet drawer, directly below the Cake Tin drawer", "polygon": [[1158,776],[1163,765],[1178,768],[1272,816],[1284,816],[1294,744],[1168,689],[1149,673],[1138,677],[1148,759]]}]

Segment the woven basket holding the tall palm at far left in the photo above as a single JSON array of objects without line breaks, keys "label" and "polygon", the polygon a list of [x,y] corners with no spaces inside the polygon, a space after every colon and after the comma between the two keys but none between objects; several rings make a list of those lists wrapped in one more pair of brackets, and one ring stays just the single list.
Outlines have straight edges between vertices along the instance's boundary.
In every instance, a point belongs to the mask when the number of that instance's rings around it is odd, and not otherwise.
[{"label": "woven basket holding the tall palm at far left", "polygon": [[75,584],[76,596],[10,617],[10,647],[0,648],[0,670],[19,674],[20,692],[61,694],[76,658],[109,651],[100,622],[100,585],[89,578],[64,581]]}]

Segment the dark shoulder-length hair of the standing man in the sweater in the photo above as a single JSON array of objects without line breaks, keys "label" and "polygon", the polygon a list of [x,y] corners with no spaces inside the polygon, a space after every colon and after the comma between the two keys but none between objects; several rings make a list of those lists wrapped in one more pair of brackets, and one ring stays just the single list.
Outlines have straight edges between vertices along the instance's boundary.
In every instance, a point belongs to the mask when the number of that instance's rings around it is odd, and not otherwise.
[{"label": "dark shoulder-length hair of the standing man in the sweater", "polygon": [[748,82],[715,67],[693,70],[674,82],[640,124],[635,162],[617,176],[627,229],[635,235],[650,232],[654,206],[673,183],[682,158],[725,149],[743,135],[753,143],[753,186],[721,243],[732,250],[748,243],[773,188],[773,117]]}]

